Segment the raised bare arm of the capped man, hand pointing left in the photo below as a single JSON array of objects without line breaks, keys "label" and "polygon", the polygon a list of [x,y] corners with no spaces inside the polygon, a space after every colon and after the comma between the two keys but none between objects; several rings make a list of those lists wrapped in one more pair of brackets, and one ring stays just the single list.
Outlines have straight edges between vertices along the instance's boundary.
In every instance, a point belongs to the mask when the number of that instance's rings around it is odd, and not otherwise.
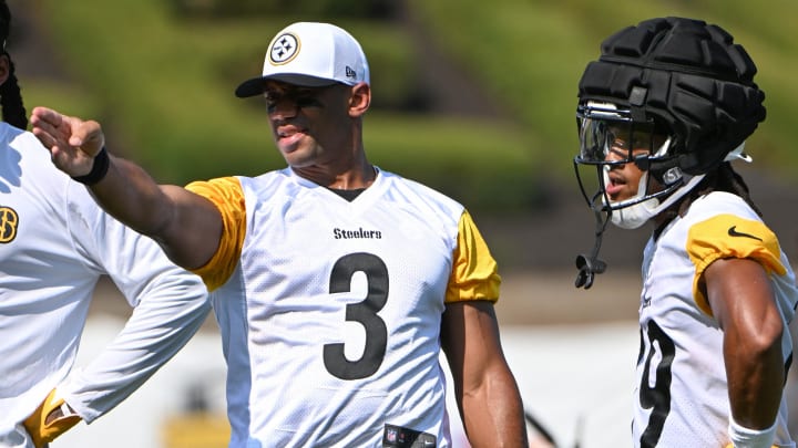
[{"label": "raised bare arm of the capped man, hand pointing left", "polygon": [[[105,136],[98,122],[35,107],[33,134],[50,150],[53,164],[73,178],[86,176],[103,156]],[[176,264],[195,269],[213,257],[222,237],[222,216],[202,196],[158,185],[140,166],[109,155],[108,171],[88,185],[109,213],[155,239]],[[96,177],[96,176],[93,176]]]}]

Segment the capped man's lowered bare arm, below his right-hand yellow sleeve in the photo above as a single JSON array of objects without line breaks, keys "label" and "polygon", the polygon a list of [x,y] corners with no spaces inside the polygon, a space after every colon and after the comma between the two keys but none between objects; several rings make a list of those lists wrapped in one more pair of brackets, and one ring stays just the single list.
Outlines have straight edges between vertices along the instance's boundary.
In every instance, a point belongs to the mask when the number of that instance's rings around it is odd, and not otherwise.
[{"label": "capped man's lowered bare arm, below his right-hand yellow sleeve", "polygon": [[504,360],[493,304],[447,304],[441,343],[471,446],[525,448],[521,394]]}]

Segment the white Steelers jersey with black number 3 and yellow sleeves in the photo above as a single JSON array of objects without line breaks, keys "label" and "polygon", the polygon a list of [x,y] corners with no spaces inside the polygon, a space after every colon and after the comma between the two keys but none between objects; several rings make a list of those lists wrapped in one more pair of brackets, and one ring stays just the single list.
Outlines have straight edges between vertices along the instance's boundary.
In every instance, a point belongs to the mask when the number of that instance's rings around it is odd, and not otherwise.
[{"label": "white Steelers jersey with black number 3 and yellow sleeves", "polygon": [[226,210],[227,239],[246,212],[241,262],[223,241],[198,271],[232,271],[212,292],[231,446],[450,446],[441,314],[500,282],[463,207],[381,170],[352,201],[290,168],[215,181],[190,188]]}]

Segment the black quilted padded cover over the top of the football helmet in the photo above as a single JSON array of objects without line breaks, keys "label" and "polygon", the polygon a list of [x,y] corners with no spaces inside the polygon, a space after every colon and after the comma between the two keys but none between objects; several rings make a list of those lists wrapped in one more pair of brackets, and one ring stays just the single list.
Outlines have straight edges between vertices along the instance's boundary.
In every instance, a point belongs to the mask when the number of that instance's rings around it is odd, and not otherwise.
[{"label": "black quilted padded cover over the top of the football helmet", "polygon": [[601,50],[580,81],[580,103],[617,104],[633,121],[668,129],[676,157],[653,171],[676,166],[705,174],[765,119],[754,61],[717,25],[673,17],[646,20],[611,35]]}]

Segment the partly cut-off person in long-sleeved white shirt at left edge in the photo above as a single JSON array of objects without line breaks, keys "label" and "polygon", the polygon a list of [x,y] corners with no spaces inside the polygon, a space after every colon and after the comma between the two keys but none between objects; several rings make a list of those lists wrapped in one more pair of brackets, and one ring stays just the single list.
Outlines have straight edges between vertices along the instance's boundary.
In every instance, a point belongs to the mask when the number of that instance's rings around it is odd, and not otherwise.
[{"label": "partly cut-off person in long-sleeved white shirt at left edge", "polygon": [[[198,277],[103,212],[23,131],[10,23],[0,0],[0,447],[41,448],[133,393],[196,332],[209,301]],[[91,364],[73,369],[102,275],[133,313]]]}]

